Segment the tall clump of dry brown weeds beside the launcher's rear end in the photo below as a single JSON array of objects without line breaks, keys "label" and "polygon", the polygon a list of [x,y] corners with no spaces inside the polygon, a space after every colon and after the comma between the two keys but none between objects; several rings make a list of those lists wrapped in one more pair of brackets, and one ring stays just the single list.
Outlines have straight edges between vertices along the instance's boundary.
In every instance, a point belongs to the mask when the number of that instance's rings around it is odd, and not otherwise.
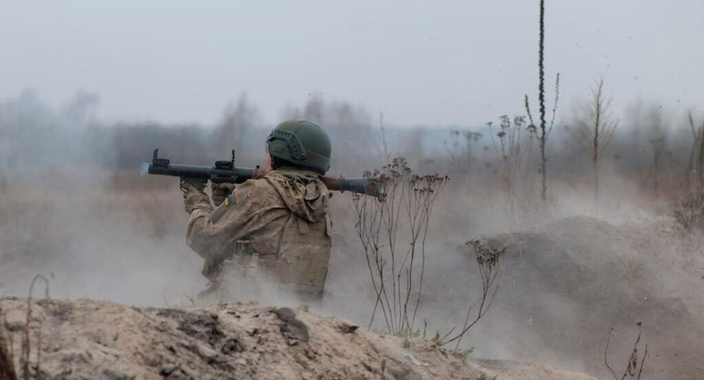
[{"label": "tall clump of dry brown weeds beside the launcher's rear end", "polygon": [[434,204],[448,181],[441,175],[417,175],[404,158],[382,170],[366,172],[371,182],[384,182],[383,198],[353,197],[356,229],[365,252],[375,305],[389,334],[413,331],[425,274],[425,241]]}]

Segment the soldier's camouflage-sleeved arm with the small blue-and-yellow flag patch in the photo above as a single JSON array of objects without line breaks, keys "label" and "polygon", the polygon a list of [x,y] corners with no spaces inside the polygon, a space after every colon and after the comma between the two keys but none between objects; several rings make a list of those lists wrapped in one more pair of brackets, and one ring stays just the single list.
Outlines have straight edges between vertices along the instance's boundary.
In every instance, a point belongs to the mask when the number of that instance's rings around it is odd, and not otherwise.
[{"label": "soldier's camouflage-sleeved arm with the small blue-and-yellow flag patch", "polygon": [[[246,181],[215,210],[193,210],[188,222],[187,244],[206,260],[220,258],[229,241],[246,239],[279,214],[271,213],[272,209],[285,213],[275,189],[263,179]],[[213,214],[219,215],[213,217]]]}]

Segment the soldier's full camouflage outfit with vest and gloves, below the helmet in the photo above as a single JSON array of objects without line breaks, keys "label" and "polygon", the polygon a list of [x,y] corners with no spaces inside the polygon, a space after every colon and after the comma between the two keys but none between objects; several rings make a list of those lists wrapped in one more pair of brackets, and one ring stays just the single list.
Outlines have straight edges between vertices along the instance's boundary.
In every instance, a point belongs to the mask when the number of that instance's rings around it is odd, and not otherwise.
[{"label": "soldier's full camouflage outfit with vest and gloves, below the helmet", "polygon": [[215,209],[206,194],[193,190],[187,243],[206,260],[210,290],[241,299],[255,296],[268,281],[307,300],[322,298],[332,222],[318,174],[272,170],[237,186]]}]

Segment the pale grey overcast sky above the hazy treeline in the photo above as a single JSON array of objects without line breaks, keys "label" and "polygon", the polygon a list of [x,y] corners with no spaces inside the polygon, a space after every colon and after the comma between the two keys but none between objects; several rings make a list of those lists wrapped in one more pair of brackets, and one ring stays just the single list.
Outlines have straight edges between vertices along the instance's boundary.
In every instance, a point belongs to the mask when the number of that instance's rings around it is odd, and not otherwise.
[{"label": "pale grey overcast sky above the hazy treeline", "polygon": [[[536,99],[537,32],[537,0],[3,0],[0,99],[83,89],[102,120],[212,124],[241,91],[268,122],[317,91],[394,125],[471,125]],[[703,0],[546,1],[565,112],[600,76],[621,109],[704,111],[703,67]]]}]

